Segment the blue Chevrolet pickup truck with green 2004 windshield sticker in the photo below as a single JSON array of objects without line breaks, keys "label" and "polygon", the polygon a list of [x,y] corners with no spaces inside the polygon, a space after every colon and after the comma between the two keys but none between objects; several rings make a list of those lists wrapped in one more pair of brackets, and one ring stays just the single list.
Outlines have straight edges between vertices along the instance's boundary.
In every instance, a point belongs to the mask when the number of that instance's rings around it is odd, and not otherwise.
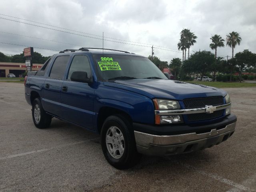
[{"label": "blue Chevrolet pickup truck with green 2004 windshield sticker", "polygon": [[229,95],[168,80],[146,57],[117,50],[64,50],[25,78],[37,128],[52,118],[100,134],[106,160],[122,169],[140,154],[165,156],[210,148],[235,131]]}]

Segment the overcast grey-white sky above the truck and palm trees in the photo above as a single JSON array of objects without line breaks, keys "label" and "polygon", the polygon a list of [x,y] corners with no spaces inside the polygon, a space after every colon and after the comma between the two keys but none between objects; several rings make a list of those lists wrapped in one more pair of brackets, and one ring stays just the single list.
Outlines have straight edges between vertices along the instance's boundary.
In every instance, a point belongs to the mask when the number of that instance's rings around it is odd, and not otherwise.
[{"label": "overcast grey-white sky above the truck and palm trees", "polygon": [[[9,44],[0,43],[0,52],[19,54],[32,46],[50,56],[67,48],[102,48],[104,32],[104,48],[149,56],[154,45],[154,55],[170,62],[182,58],[177,43],[181,30],[188,28],[198,37],[191,53],[199,49],[214,53],[210,37],[218,34],[226,39],[232,31],[242,37],[234,54],[244,49],[255,53],[255,7],[254,0],[2,0],[0,42]],[[168,50],[159,49],[163,47]],[[225,42],[217,55],[231,56],[232,49]]]}]

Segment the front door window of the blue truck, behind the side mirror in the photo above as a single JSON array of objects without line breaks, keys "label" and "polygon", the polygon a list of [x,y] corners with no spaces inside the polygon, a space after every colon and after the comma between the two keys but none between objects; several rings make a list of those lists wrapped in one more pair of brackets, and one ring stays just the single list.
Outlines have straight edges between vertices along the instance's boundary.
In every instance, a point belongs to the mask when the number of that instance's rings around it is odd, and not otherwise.
[{"label": "front door window of the blue truck, behind the side mirror", "polygon": [[84,72],[87,72],[88,78],[92,77],[90,63],[86,56],[84,56],[84,55],[74,56],[74,59],[71,63],[71,66],[70,66],[70,69],[68,72],[69,80],[70,80],[70,76],[71,76],[72,72],[74,72],[74,71],[84,71]]}]

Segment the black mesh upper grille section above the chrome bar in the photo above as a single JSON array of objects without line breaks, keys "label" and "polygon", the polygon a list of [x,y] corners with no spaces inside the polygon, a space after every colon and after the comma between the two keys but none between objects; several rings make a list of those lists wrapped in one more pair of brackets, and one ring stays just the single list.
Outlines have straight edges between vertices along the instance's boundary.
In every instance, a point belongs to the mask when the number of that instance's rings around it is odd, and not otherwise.
[{"label": "black mesh upper grille section above the chrome bar", "polygon": [[217,97],[204,97],[204,98],[191,98],[183,100],[185,109],[201,108],[206,105],[218,106],[223,105],[224,100],[222,96]]}]

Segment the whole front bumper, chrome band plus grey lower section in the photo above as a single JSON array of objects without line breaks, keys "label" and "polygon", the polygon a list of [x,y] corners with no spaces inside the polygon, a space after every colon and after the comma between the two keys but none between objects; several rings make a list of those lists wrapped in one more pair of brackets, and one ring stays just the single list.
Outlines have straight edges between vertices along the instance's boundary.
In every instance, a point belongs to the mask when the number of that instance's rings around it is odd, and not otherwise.
[{"label": "whole front bumper, chrome band plus grey lower section", "polygon": [[193,152],[220,144],[234,133],[235,127],[236,122],[232,122],[204,133],[153,135],[134,131],[134,136],[139,153],[164,156]]}]

